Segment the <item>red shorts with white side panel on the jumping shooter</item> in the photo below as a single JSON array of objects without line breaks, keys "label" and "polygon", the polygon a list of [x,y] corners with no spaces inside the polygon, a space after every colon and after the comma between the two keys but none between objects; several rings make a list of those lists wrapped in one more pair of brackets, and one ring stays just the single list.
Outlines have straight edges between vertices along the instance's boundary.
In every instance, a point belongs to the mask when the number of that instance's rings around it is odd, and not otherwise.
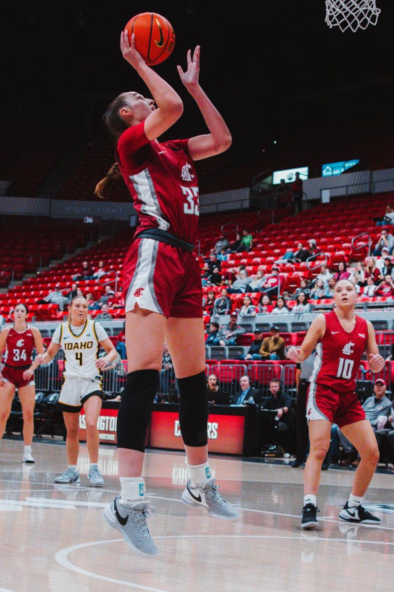
[{"label": "red shorts with white side panel on the jumping shooter", "polygon": [[166,317],[201,318],[203,291],[195,253],[153,239],[136,239],[123,266],[126,313],[140,308]]}]

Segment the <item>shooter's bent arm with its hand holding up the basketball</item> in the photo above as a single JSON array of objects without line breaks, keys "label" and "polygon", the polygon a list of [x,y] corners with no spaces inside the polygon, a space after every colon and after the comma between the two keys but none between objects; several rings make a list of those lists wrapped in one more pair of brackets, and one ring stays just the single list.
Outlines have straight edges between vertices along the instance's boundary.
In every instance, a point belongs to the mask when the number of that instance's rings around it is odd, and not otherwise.
[{"label": "shooter's bent arm with its hand holding up the basketball", "polygon": [[126,62],[136,70],[148,86],[157,105],[157,109],[146,117],[144,123],[146,137],[148,140],[155,140],[181,117],[182,99],[155,70],[146,65],[144,58],[135,49],[134,34],[129,44],[128,32],[122,31],[121,52]]}]

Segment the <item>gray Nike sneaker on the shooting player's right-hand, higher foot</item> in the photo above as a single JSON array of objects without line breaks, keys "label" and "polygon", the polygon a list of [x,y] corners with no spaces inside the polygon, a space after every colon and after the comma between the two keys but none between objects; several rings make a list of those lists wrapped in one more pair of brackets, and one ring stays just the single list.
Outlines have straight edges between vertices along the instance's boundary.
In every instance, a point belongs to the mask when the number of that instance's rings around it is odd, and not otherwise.
[{"label": "gray Nike sneaker on the shooting player's right-hand, higher foot", "polygon": [[191,487],[189,479],[181,500],[186,506],[206,508],[215,518],[237,520],[240,516],[239,511],[224,500],[218,490],[219,485],[215,485],[214,479],[207,481],[204,487]]}]

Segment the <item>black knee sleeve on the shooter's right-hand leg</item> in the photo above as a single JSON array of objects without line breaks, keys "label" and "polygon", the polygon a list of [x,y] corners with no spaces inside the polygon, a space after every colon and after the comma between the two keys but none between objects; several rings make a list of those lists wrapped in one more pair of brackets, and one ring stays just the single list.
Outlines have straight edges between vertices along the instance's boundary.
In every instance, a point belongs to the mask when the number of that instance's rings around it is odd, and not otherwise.
[{"label": "black knee sleeve on the shooter's right-hand leg", "polygon": [[208,443],[208,390],[205,372],[178,378],[179,425],[186,446]]}]

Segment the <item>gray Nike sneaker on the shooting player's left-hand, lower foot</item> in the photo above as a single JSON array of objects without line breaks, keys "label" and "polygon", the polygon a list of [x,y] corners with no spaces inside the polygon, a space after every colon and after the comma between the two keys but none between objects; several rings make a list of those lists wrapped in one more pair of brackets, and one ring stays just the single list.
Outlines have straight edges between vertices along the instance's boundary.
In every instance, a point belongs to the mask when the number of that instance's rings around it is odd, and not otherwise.
[{"label": "gray Nike sneaker on the shooting player's left-hand, lower foot", "polygon": [[131,546],[138,555],[154,557],[158,555],[158,548],[149,532],[146,520],[154,509],[149,507],[148,501],[135,501],[127,506],[119,503],[120,496],[116,497],[103,510],[103,518],[112,528],[116,528],[122,534],[126,543]]}]

